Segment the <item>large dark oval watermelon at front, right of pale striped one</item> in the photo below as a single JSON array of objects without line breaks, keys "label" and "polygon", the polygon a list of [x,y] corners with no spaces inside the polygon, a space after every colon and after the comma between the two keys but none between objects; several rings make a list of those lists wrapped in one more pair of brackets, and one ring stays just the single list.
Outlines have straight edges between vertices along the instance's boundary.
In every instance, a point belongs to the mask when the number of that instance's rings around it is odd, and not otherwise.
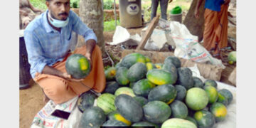
[{"label": "large dark oval watermelon at front, right of pale striped one", "polygon": [[142,106],[129,95],[118,95],[114,100],[117,111],[130,122],[139,122],[143,117]]}]

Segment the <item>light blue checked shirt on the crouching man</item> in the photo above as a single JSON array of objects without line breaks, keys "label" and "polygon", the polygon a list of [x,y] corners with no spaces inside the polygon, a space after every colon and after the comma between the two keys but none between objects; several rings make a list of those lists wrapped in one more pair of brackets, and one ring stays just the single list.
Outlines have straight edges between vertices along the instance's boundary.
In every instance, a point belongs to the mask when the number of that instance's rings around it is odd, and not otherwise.
[{"label": "light blue checked shirt on the crouching man", "polygon": [[97,37],[73,11],[69,12],[68,25],[56,31],[47,21],[48,10],[28,24],[24,31],[30,73],[35,78],[36,72],[42,73],[46,65],[53,65],[63,60],[71,48],[72,31],[85,38],[85,42]]}]

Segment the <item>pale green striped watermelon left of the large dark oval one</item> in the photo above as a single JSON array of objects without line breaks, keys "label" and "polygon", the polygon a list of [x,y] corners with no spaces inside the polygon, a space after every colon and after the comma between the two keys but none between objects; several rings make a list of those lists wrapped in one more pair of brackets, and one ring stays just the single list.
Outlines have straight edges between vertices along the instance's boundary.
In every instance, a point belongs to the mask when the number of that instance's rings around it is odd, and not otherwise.
[{"label": "pale green striped watermelon left of the large dark oval one", "polygon": [[110,93],[104,93],[97,97],[97,107],[100,107],[105,114],[109,114],[116,110],[114,107],[114,98],[115,96]]}]

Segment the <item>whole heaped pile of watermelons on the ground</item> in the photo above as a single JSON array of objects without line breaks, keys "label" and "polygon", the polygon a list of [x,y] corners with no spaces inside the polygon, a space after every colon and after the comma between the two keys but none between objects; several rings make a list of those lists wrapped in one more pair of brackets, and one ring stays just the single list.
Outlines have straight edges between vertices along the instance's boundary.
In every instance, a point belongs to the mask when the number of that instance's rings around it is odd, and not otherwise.
[{"label": "whole heaped pile of watermelons on the ground", "polygon": [[175,56],[154,64],[140,53],[131,53],[106,69],[105,75],[106,88],[96,98],[97,106],[80,103],[87,105],[81,111],[80,127],[213,127],[225,120],[233,100],[232,93],[218,90],[214,80],[192,77]]}]

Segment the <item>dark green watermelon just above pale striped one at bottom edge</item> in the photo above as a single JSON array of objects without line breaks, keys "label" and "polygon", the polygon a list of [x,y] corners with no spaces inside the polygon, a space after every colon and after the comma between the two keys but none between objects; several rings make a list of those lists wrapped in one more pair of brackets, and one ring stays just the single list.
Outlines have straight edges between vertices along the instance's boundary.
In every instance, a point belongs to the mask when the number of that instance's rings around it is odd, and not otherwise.
[{"label": "dark green watermelon just above pale striped one at bottom edge", "polygon": [[185,119],[188,116],[188,107],[186,107],[183,102],[174,100],[174,102],[170,104],[170,107],[172,117]]}]

